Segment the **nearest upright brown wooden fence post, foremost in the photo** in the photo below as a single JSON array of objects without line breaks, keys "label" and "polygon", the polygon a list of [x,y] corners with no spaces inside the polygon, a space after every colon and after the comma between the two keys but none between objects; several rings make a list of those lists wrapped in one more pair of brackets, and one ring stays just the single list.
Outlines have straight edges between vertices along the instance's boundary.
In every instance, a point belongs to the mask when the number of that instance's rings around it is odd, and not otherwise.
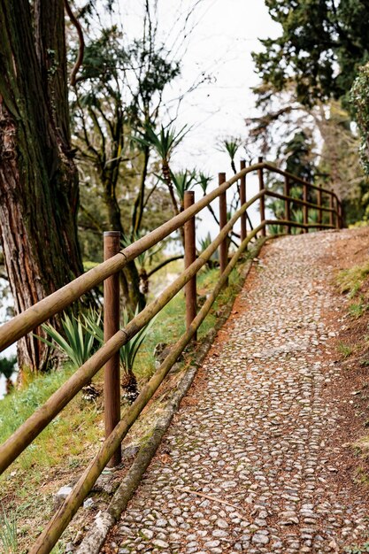
[{"label": "nearest upright brown wooden fence post, foremost in the photo", "polygon": [[[118,254],[120,250],[119,231],[104,233],[104,261]],[[114,273],[104,281],[104,342],[119,331],[119,273]],[[104,411],[105,438],[120,420],[120,372],[119,352],[104,365]],[[120,447],[108,463],[109,467],[119,466]]]}]

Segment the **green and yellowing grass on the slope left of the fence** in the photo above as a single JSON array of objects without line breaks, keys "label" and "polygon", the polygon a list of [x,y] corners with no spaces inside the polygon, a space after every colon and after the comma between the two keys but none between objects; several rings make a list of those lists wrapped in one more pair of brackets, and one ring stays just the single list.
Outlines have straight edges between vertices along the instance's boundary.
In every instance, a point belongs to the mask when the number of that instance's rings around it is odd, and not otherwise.
[{"label": "green and yellowing grass on the slope left of the fence", "polygon": [[[181,271],[181,265],[178,269]],[[158,272],[158,279],[162,277]],[[203,269],[197,276],[199,294],[203,295],[211,290],[218,279],[219,270]],[[214,327],[217,312],[234,297],[234,286],[239,281],[240,277],[234,271],[230,275],[229,286],[219,295],[211,313],[200,327],[199,339]],[[158,314],[154,326],[150,328],[147,341],[137,355],[134,371],[140,384],[147,381],[155,371],[153,351],[156,344],[175,342],[184,331],[185,305],[181,292]],[[4,400],[0,401],[0,441],[4,442],[12,435],[12,432],[35,412],[73,374],[73,371],[72,364],[65,364],[58,372],[32,377],[25,389],[5,396]],[[101,387],[101,380],[100,372],[94,380],[97,388]],[[86,404],[79,393],[0,477],[0,502],[7,514],[16,514],[16,535],[19,542],[17,553],[26,554],[29,545],[35,542],[35,538],[54,511],[53,494],[61,486],[73,481],[76,474],[88,465],[103,436],[104,422],[101,409],[98,405]],[[8,516],[7,521],[12,522],[12,516]],[[12,527],[12,523],[3,527],[9,531],[9,526]],[[73,529],[73,526],[68,527],[61,543],[73,539],[73,533],[76,533],[76,529]],[[0,542],[0,551],[3,550]],[[60,554],[62,551],[64,550],[60,545],[52,550],[53,554]],[[4,554],[8,552],[4,550]],[[9,554],[12,554],[12,550]]]}]

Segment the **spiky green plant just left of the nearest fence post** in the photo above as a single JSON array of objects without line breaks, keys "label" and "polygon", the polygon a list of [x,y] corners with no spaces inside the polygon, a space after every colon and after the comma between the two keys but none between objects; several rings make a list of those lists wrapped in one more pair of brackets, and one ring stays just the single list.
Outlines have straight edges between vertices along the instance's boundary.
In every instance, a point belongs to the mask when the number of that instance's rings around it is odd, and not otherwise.
[{"label": "spiky green plant just left of the nearest fence post", "polygon": [[[98,316],[97,323],[99,321]],[[95,335],[83,326],[80,317],[69,317],[65,313],[61,319],[61,324],[65,337],[50,323],[42,323],[42,329],[50,336],[51,342],[41,336],[37,338],[48,344],[51,348],[65,354],[71,360],[74,368],[81,367],[91,357]]]}]

